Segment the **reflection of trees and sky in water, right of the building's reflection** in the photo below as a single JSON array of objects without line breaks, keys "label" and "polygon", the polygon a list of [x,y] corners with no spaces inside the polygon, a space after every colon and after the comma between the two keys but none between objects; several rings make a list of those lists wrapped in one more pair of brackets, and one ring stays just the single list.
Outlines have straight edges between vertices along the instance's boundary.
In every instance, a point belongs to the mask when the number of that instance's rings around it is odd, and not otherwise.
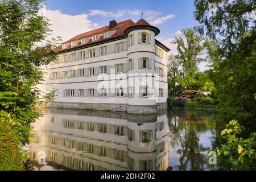
[{"label": "reflection of trees and sky in water, right of the building's reflection", "polygon": [[201,111],[175,111],[168,115],[170,126],[170,144],[179,148],[179,170],[203,170],[207,167],[205,153],[209,148],[199,142],[201,133],[215,133],[215,122],[212,115]]}]

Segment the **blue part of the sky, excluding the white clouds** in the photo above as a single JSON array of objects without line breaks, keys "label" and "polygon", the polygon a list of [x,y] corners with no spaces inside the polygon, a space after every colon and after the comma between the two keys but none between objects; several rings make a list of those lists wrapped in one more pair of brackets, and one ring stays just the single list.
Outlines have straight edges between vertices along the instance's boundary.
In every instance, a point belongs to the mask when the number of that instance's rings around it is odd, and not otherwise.
[{"label": "blue part of the sky, excluding the white clouds", "polygon": [[[156,24],[160,28],[160,35],[158,38],[172,38],[176,31],[181,30],[187,27],[193,27],[197,25],[195,19],[193,19],[193,1],[174,1],[174,0],[165,0],[165,1],[149,1],[149,0],[140,0],[140,1],[118,1],[118,0],[108,0],[108,1],[82,1],[82,0],[49,0],[47,1],[47,9],[49,10],[61,10],[64,14],[69,15],[79,15],[79,14],[89,14],[90,10],[102,10],[112,13],[117,13],[119,10],[130,10],[130,11],[156,11],[159,14],[155,14],[155,19],[172,14],[175,15],[175,18],[166,20],[166,22],[161,24]],[[154,16],[154,14],[152,14]],[[94,15],[90,16],[89,20],[93,23],[98,23],[99,26],[105,26],[109,23],[109,20],[115,19],[117,21],[125,19],[138,20],[141,18],[140,14],[127,14],[125,13],[122,16],[101,16]],[[150,19],[147,19],[147,16],[144,15],[144,19],[151,22]]]}]

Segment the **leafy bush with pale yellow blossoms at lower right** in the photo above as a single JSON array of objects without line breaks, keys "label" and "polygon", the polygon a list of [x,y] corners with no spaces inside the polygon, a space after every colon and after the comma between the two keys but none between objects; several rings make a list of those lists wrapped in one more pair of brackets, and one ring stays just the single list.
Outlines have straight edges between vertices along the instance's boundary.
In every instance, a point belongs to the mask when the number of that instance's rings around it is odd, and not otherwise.
[{"label": "leafy bush with pale yellow blossoms at lower right", "polygon": [[256,133],[249,138],[238,135],[245,130],[237,121],[230,121],[221,132],[224,143],[217,148],[217,164],[221,170],[255,170],[256,169]]}]

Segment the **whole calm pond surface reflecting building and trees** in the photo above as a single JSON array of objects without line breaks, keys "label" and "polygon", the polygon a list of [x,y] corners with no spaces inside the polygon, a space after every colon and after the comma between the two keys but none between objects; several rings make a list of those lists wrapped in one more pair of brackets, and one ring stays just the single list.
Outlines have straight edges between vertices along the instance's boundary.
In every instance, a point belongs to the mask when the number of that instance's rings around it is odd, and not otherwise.
[{"label": "whole calm pond surface reflecting building and trees", "polygon": [[[34,170],[205,170],[215,137],[209,111],[134,115],[43,109],[34,123]],[[45,161],[44,161],[45,159]],[[39,163],[38,163],[39,161]]]}]

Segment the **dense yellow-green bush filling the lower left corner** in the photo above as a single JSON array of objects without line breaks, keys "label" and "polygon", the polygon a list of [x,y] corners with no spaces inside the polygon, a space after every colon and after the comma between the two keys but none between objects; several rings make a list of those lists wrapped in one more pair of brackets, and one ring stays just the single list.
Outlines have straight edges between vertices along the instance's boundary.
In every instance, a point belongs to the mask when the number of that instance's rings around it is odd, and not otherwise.
[{"label": "dense yellow-green bush filling the lower left corner", "polygon": [[0,171],[23,170],[23,154],[19,140],[9,121],[9,115],[0,111]]}]

